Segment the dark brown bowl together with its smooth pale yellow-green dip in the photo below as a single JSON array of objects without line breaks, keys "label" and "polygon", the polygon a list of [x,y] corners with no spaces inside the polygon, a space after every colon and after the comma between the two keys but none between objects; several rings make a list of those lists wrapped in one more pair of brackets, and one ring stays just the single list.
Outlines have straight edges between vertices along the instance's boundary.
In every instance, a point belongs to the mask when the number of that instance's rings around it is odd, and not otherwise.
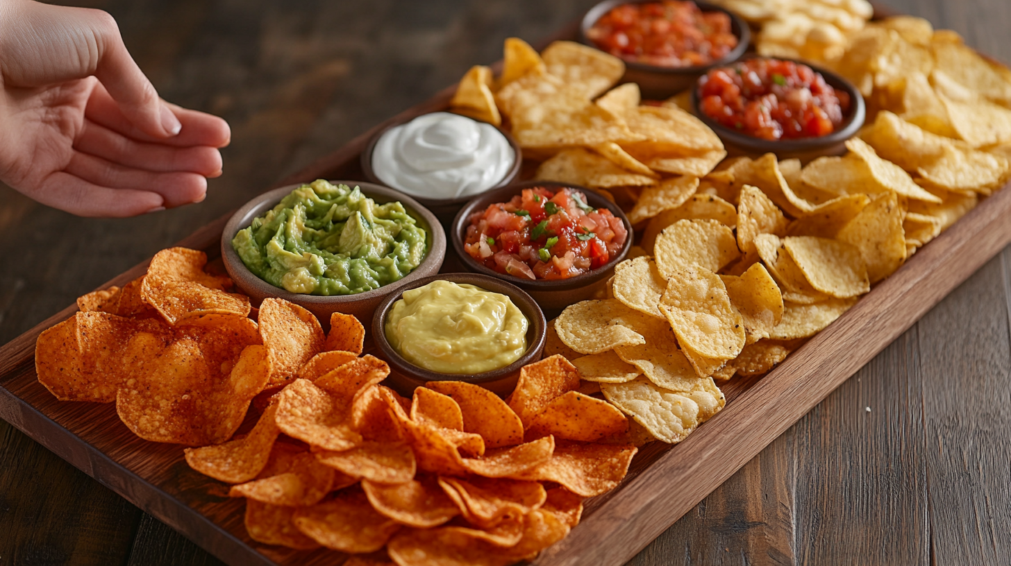
[{"label": "dark brown bowl together with its smooth pale yellow-green dip", "polygon": [[[419,301],[436,305],[418,308]],[[526,324],[517,323],[517,316]],[[466,381],[505,396],[516,387],[520,369],[541,359],[546,329],[544,313],[530,295],[516,285],[477,273],[413,281],[386,297],[372,317],[378,355],[392,369],[387,383],[408,397],[429,381]],[[517,340],[518,332],[523,333],[522,341]],[[486,352],[480,349],[481,340]],[[523,344],[517,348],[519,342]]]}]

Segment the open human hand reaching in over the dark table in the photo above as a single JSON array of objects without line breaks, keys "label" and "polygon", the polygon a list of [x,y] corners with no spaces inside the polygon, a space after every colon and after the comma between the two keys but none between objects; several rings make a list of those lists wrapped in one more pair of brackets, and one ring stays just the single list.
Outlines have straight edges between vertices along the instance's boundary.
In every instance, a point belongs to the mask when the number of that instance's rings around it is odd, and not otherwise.
[{"label": "open human hand reaching in over the dark table", "polygon": [[158,97],[100,10],[0,0],[0,181],[81,216],[200,202],[228,124]]}]

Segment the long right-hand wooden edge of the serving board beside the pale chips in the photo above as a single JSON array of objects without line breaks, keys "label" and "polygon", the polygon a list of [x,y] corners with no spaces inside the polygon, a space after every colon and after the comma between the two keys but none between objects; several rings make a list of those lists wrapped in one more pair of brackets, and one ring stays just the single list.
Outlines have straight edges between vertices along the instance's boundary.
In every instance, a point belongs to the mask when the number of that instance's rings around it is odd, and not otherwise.
[{"label": "long right-hand wooden edge of the serving board beside the pale chips", "polygon": [[[1011,244],[1008,214],[1011,188],[1005,187],[922,248],[676,450],[609,494],[534,564],[619,566],[633,558]],[[796,402],[798,397],[804,402]],[[734,450],[718,443],[724,437],[734,439]],[[670,477],[698,481],[677,490],[656,488]]]}]

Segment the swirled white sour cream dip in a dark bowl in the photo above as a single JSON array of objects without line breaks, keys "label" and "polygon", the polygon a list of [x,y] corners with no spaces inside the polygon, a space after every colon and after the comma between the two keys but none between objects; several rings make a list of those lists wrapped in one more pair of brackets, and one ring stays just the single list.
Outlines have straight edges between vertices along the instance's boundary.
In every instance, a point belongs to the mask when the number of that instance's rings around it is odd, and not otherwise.
[{"label": "swirled white sour cream dip in a dark bowl", "polygon": [[493,125],[433,112],[391,127],[372,151],[372,171],[411,196],[471,196],[505,178],[516,162],[509,139]]}]

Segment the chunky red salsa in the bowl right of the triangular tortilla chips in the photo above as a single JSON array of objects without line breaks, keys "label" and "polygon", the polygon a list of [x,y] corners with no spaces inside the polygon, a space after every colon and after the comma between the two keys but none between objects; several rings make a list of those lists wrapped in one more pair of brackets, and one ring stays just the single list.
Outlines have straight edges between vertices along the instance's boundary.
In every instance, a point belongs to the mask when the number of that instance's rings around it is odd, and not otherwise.
[{"label": "chunky red salsa in the bowl right of the triangular tortilla chips", "polygon": [[713,69],[701,82],[702,111],[721,124],[763,139],[828,135],[849,110],[849,93],[807,65],[752,59]]}]

